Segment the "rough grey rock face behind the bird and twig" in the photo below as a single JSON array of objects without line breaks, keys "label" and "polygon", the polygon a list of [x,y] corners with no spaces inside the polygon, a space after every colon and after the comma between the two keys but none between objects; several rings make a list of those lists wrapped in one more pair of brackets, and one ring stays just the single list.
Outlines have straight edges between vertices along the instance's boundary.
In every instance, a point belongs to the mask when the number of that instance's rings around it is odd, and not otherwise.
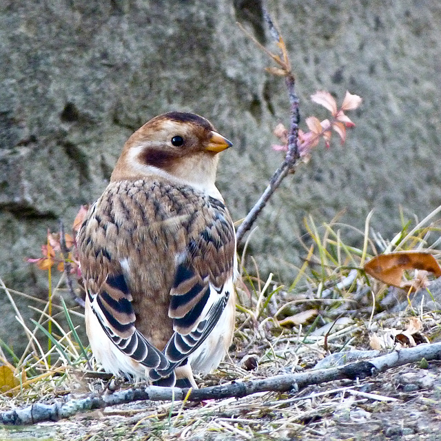
[{"label": "rough grey rock face behind the bird and twig", "polygon": [[[356,3],[356,4],[355,4]],[[262,271],[289,281],[302,218],[372,225],[391,236],[441,204],[441,3],[269,2],[296,73],[302,116],[325,110],[316,90],[360,94],[344,147],[318,147],[287,178],[252,236]],[[274,48],[260,0],[0,3],[0,276],[46,295],[37,256],[59,218],[101,194],[130,134],[169,110],[206,116],[234,142],[218,185],[234,218],[245,216],[281,160],[276,123],[288,123],[283,81],[236,26]],[[356,238],[354,238],[356,240]],[[23,308],[24,309],[24,308]],[[13,343],[3,302],[0,337]],[[8,331],[6,331],[8,329]]]}]

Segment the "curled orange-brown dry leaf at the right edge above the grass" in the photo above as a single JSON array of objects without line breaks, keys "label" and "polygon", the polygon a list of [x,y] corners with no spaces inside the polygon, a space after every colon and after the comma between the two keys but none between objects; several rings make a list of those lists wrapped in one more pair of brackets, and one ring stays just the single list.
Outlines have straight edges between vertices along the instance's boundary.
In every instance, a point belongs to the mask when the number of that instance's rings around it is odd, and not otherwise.
[{"label": "curled orange-brown dry leaf at the right edge above the grass", "polygon": [[[409,287],[409,282],[403,280],[404,271],[409,269],[422,269],[433,273],[437,278],[441,277],[438,262],[431,254],[424,252],[381,254],[365,265],[369,276],[398,288]],[[416,285],[411,284],[410,289],[415,291],[416,288]]]}]

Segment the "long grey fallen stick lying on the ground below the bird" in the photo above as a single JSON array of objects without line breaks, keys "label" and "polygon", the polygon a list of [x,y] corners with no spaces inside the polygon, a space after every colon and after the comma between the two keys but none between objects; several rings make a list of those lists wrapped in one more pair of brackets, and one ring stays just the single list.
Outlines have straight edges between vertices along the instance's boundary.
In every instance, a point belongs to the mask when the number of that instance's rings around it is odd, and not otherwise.
[{"label": "long grey fallen stick lying on the ground below the bird", "polygon": [[[322,384],[329,381],[348,378],[356,380],[375,375],[387,369],[406,365],[412,362],[426,360],[441,360],[441,342],[433,345],[418,345],[409,349],[393,351],[384,356],[359,361],[342,367],[329,369],[311,369],[302,373],[279,375],[265,380],[234,381],[230,384],[205,387],[193,390],[188,400],[201,402],[210,399],[241,398],[258,392],[287,392],[299,391],[310,384]],[[54,404],[32,404],[24,409],[15,409],[0,413],[3,424],[34,424],[43,421],[57,421],[68,418],[76,413],[103,409],[107,406],[123,404],[139,400],[151,401],[181,401],[187,396],[189,389],[150,386],[145,389],[127,389],[112,393],[112,395],[87,397],[69,402]]]}]

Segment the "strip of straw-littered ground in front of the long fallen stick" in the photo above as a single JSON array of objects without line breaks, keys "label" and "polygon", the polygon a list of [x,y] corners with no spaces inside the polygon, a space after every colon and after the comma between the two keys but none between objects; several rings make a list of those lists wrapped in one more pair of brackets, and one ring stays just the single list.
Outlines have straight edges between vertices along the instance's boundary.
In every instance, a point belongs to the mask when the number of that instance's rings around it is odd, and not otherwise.
[{"label": "strip of straw-littered ground in front of the long fallen stick", "polygon": [[[285,404],[278,409],[271,404],[276,400],[271,393],[265,394],[258,406],[250,398],[225,400],[208,412],[212,413],[208,418],[207,412],[201,411],[203,406],[197,404],[183,411],[193,414],[184,415],[183,420],[188,418],[188,424],[194,425],[194,414],[201,413],[199,430],[174,423],[177,412],[170,423],[167,418],[162,422],[155,418],[155,411],[164,412],[163,403],[138,402],[34,427],[2,427],[0,440],[435,441],[441,440],[440,374],[441,362],[431,362],[427,369],[407,365],[357,384],[340,380],[307,387],[279,397]],[[366,393],[378,398],[368,398]],[[259,409],[260,418],[253,414],[253,407]]]}]

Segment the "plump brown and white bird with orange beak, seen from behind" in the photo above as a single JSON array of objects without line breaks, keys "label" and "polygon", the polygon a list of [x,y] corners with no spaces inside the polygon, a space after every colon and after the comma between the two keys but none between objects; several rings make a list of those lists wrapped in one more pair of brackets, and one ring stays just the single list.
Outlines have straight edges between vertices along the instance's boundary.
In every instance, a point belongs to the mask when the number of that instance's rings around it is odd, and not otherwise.
[{"label": "plump brown and white bird with orange beak, seen from behind", "polygon": [[232,147],[189,112],[147,121],[125,143],[76,237],[85,327],[104,370],[197,388],[232,343],[238,274],[232,217],[216,187]]}]

